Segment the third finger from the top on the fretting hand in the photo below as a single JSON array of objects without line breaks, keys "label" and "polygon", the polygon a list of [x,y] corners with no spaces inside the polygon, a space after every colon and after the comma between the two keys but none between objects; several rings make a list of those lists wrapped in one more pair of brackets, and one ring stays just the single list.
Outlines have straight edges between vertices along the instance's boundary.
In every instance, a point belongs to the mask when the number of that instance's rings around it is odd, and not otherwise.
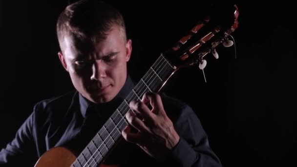
[{"label": "third finger from the top on the fretting hand", "polygon": [[128,123],[140,132],[151,133],[148,127],[144,124],[144,122],[140,120],[132,111],[128,111],[126,113],[126,118]]}]

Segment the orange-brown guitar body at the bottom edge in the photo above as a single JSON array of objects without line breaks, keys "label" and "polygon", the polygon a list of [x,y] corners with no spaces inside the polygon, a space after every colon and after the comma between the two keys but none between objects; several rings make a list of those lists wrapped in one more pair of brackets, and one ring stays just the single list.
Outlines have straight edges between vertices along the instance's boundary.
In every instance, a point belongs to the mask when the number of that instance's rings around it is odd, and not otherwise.
[{"label": "orange-brown guitar body at the bottom edge", "polygon": [[[75,154],[69,149],[55,147],[46,151],[34,167],[70,167],[76,158]],[[120,165],[102,164],[99,167],[120,167]]]}]

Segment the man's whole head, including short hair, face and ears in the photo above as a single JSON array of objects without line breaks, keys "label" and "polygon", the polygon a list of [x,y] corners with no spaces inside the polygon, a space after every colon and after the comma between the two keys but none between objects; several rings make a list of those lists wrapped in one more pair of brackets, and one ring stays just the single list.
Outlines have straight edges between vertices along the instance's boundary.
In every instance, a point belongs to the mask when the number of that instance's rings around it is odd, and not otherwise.
[{"label": "man's whole head, including short hair, face and ears", "polygon": [[125,84],[132,51],[122,15],[99,0],[80,0],[60,15],[57,35],[74,87],[94,103],[112,100]]}]

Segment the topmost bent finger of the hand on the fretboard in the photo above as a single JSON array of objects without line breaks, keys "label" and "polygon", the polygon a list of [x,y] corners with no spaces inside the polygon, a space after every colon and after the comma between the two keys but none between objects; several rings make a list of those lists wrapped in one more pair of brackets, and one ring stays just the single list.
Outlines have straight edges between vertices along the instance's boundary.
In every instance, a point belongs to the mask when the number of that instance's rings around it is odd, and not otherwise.
[{"label": "topmost bent finger of the hand on the fretboard", "polygon": [[152,111],[155,114],[165,114],[163,103],[161,96],[158,93],[153,93],[153,92],[147,92],[144,94],[142,101],[144,102],[150,102],[152,106]]}]

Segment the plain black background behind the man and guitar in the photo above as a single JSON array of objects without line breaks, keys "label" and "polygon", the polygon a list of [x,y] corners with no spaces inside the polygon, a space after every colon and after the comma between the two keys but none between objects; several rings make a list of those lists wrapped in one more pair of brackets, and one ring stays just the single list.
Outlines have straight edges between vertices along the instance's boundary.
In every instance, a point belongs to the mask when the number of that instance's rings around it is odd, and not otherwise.
[{"label": "plain black background behind the man and guitar", "polygon": [[[207,83],[197,66],[164,88],[190,104],[225,167],[296,166],[296,25],[293,2],[116,1],[126,17],[140,79],[161,52],[185,35],[206,6],[236,3],[234,47],[209,57]],[[11,141],[35,103],[73,89],[59,62],[55,24],[66,0],[0,1],[0,147]],[[198,133],[198,132],[197,132]]]}]

